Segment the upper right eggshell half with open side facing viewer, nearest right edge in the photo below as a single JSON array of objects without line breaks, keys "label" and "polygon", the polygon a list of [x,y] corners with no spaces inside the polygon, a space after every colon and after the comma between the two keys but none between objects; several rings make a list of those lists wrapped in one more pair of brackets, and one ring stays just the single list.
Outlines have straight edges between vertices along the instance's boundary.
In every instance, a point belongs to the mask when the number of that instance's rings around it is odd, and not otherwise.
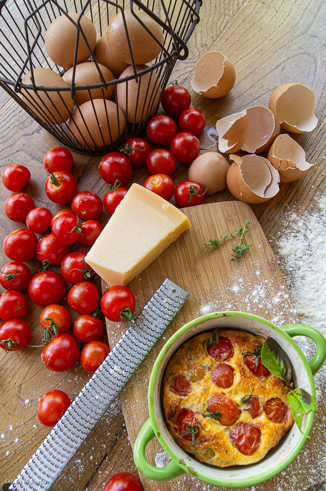
[{"label": "upper right eggshell half with open side facing viewer, nearest right edge", "polygon": [[270,97],[269,108],[276,114],[281,127],[293,133],[308,133],[316,128],[315,93],[301,83],[284,83]]}]

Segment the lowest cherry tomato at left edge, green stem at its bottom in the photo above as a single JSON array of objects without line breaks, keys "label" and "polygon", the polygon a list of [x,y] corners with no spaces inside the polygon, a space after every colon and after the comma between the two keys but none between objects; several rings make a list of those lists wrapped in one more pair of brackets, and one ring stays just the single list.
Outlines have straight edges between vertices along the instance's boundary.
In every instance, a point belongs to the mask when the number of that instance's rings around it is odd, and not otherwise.
[{"label": "lowest cherry tomato at left edge, green stem at its bottom", "polygon": [[31,337],[30,327],[21,319],[8,319],[0,325],[0,348],[6,352],[25,348]]}]

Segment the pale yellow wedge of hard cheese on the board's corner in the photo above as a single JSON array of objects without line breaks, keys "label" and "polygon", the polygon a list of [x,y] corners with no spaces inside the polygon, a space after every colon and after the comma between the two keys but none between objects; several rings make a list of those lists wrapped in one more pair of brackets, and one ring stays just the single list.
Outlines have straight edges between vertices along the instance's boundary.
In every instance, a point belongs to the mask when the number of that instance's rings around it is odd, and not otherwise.
[{"label": "pale yellow wedge of hard cheese on the board's corner", "polygon": [[127,285],[189,227],[180,210],[135,183],[85,260],[110,286]]}]

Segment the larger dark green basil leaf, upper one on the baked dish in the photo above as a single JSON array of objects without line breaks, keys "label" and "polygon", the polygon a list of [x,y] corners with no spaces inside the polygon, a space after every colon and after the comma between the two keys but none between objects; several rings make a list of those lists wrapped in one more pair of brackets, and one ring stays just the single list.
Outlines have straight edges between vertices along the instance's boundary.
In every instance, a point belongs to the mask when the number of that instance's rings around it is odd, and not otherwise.
[{"label": "larger dark green basil leaf, upper one on the baked dish", "polygon": [[292,375],[290,359],[280,345],[271,337],[268,337],[264,341],[261,360],[262,364],[273,375],[290,385]]}]

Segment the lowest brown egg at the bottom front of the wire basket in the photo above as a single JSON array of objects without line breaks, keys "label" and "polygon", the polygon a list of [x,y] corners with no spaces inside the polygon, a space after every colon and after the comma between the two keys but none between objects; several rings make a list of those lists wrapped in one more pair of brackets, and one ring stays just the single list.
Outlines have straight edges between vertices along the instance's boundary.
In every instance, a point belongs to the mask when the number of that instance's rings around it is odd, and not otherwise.
[{"label": "lowest brown egg at the bottom front of the wire basket", "polygon": [[114,102],[94,99],[74,110],[68,126],[79,143],[90,147],[103,147],[113,143],[122,135],[125,129],[125,117]]}]

